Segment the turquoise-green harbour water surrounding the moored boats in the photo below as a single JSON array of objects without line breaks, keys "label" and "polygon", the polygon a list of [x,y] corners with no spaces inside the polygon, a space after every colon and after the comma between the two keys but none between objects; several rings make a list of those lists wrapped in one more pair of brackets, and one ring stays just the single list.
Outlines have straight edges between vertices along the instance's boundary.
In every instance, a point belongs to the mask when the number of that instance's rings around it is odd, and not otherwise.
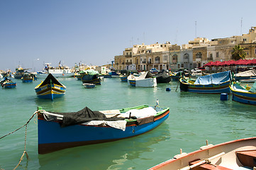
[{"label": "turquoise-green harbour water surrounding the moored boats", "polygon": [[[64,149],[38,155],[36,117],[28,124],[26,151],[18,169],[149,169],[183,152],[205,145],[255,136],[255,106],[221,101],[219,94],[180,92],[177,81],[155,88],[127,86],[120,79],[104,79],[95,89],[84,89],[82,81],[58,79],[67,86],[63,98],[39,99],[35,86],[22,83],[16,89],[0,89],[0,137],[24,125],[38,106],[46,111],[72,112],[85,106],[91,110],[118,109],[148,104],[169,107],[169,118],[155,130],[126,140]],[[165,89],[169,87],[171,91]],[[176,91],[177,89],[177,91]],[[229,96],[230,99],[230,96]],[[25,128],[0,140],[0,169],[14,169],[24,150]]]}]

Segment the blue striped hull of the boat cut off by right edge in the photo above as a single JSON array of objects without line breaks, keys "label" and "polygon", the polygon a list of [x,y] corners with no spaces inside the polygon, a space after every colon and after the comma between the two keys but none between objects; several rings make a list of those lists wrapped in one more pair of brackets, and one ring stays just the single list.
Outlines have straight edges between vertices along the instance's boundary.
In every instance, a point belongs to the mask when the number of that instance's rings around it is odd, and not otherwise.
[{"label": "blue striped hull of the boat cut off by right edge", "polygon": [[256,93],[237,91],[230,86],[232,91],[232,100],[239,103],[256,105]]}]

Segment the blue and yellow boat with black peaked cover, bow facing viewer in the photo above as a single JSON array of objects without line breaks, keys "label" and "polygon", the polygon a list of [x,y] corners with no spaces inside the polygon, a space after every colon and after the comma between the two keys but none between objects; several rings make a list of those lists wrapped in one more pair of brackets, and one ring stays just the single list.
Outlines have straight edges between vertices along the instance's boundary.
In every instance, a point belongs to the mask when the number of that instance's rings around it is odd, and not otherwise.
[{"label": "blue and yellow boat with black peaked cover, bow facing viewer", "polygon": [[52,74],[48,74],[45,81],[42,81],[35,87],[35,93],[38,98],[60,98],[65,95],[66,86],[61,84]]}]

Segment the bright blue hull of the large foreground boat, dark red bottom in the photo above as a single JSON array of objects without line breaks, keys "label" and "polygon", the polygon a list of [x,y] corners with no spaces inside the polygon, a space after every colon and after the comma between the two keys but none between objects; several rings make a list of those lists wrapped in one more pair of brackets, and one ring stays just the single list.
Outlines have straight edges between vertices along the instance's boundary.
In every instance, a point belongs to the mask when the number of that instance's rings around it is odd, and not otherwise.
[{"label": "bright blue hull of the large foreground boat, dark red bottom", "polygon": [[[40,113],[38,113],[40,114]],[[155,115],[149,123],[138,125],[127,120],[126,130],[101,125],[71,125],[61,128],[58,122],[46,121],[38,115],[38,153],[46,154],[60,149],[111,142],[148,132],[163,123],[169,116],[169,108]]]}]

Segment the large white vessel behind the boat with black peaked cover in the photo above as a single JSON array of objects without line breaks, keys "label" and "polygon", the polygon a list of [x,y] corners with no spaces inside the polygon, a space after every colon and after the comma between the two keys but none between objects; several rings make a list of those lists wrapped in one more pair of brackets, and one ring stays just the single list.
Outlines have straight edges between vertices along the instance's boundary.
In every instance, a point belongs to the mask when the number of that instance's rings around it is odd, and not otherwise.
[{"label": "large white vessel behind the boat with black peaked cover", "polygon": [[48,74],[52,74],[56,78],[74,77],[74,72],[67,66],[61,66],[60,63],[59,67],[50,67],[50,63],[45,63],[45,72],[38,72],[37,77],[45,79]]}]

